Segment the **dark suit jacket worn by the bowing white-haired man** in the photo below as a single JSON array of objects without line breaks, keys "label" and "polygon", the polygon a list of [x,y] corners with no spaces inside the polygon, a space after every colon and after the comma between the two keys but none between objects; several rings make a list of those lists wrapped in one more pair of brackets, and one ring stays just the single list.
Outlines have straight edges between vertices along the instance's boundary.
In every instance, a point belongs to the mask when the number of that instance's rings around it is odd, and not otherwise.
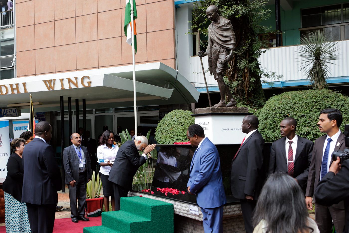
[{"label": "dark suit jacket worn by the bowing white-haired man", "polygon": [[127,141],[119,148],[113,167],[109,173],[109,180],[130,190],[133,176],[137,169],[146,162],[144,156],[140,156],[134,141]]}]

